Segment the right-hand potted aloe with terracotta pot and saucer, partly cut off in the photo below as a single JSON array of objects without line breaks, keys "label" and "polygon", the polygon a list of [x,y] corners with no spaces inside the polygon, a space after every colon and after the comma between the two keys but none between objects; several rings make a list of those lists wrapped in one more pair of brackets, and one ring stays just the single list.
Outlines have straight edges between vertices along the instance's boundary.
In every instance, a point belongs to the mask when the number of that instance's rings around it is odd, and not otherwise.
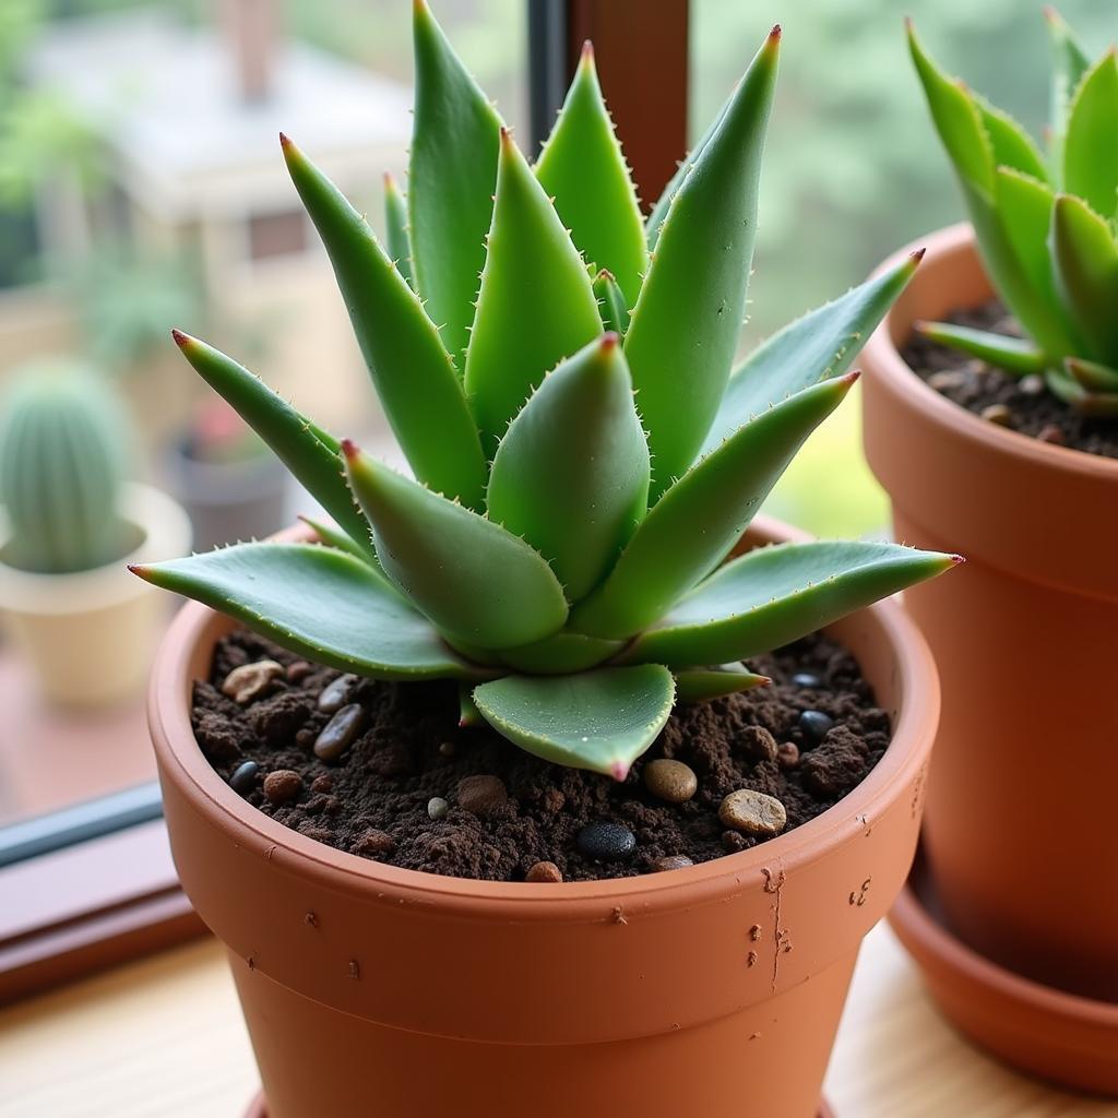
[{"label": "right-hand potted aloe with terracotta pot and saucer, partly cut off", "polygon": [[972,226],[929,239],[865,350],[865,451],[897,537],[972,562],[906,596],[944,717],[929,872],[894,920],[979,1041],[1118,1091],[1118,64],[1046,18],[1044,150],[909,29]]}]

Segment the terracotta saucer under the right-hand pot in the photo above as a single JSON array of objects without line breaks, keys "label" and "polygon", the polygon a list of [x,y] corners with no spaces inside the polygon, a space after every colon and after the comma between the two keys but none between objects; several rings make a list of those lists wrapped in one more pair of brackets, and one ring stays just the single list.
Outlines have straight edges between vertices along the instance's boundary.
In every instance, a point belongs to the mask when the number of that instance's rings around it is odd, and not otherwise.
[{"label": "terracotta saucer under the right-hand pot", "polygon": [[1022,978],[957,939],[920,858],[889,922],[940,1010],[972,1040],[1034,1076],[1118,1096],[1118,1004]]}]

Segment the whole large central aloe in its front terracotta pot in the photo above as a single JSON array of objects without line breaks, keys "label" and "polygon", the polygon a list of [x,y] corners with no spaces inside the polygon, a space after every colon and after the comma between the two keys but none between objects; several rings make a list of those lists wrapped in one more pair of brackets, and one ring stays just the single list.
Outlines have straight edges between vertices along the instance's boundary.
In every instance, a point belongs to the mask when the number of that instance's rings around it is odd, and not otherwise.
[{"label": "whole large central aloe in its front terracotta pot", "polygon": [[176,332],[335,521],[134,567],[278,1118],[816,1112],[937,717],[870,604],[957,557],[755,521],[918,262],[731,372],[778,45],[647,224],[589,50],[532,167],[421,2],[399,262],[283,138],[414,480]]}]

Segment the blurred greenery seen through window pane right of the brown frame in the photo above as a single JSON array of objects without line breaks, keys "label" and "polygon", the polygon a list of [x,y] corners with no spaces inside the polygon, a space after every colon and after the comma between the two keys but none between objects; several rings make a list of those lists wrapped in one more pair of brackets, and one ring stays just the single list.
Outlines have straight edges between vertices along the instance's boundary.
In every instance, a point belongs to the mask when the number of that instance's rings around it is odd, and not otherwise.
[{"label": "blurred greenery seen through window pane right of the brown frame", "polygon": [[[1059,8],[1092,50],[1114,37],[1111,0]],[[912,74],[906,15],[949,72],[1040,134],[1049,96],[1040,0],[692,0],[692,136],[773,23],[785,31],[761,172],[750,342],[845,291],[901,245],[964,217]],[[854,401],[796,458],[767,508],[819,533],[884,525]]]}]

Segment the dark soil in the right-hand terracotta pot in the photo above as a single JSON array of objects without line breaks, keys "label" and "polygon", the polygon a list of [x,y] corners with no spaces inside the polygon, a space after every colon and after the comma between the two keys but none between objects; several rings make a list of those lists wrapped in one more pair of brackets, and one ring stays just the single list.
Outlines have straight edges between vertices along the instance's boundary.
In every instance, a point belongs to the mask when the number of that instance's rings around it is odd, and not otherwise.
[{"label": "dark soil in the right-hand terracotta pot", "polygon": [[[945,321],[1021,337],[1016,319],[996,299],[956,311]],[[901,357],[941,396],[984,418],[993,416],[989,421],[1045,443],[1118,458],[1118,419],[1081,416],[1058,400],[1040,377],[1012,377],[919,334],[909,338]]]}]

